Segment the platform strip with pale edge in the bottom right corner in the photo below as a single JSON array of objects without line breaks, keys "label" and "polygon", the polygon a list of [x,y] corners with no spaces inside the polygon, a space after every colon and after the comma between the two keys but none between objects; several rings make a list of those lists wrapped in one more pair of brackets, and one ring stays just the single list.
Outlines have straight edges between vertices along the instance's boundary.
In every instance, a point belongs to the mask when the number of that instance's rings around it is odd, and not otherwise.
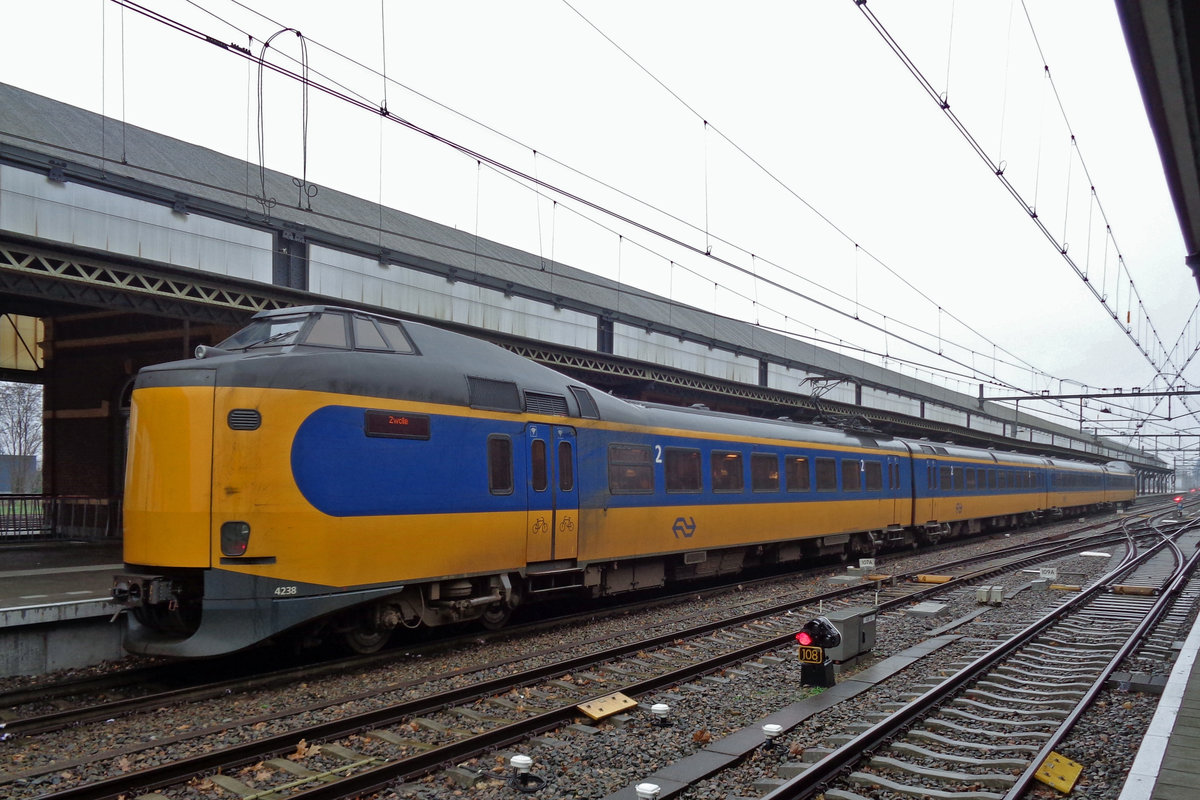
[{"label": "platform strip with pale edge in the bottom right corner", "polygon": [[1193,800],[1200,786],[1200,620],[1183,640],[1120,800]]}]

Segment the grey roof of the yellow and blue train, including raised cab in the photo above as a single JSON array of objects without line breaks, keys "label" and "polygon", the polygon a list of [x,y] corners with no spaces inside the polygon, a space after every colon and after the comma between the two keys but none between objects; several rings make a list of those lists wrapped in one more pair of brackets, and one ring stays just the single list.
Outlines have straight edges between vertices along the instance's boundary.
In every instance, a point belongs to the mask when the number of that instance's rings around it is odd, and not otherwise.
[{"label": "grey roof of the yellow and blue train, including raised cab", "polygon": [[[325,314],[343,315],[344,344],[313,342],[316,323]],[[296,318],[306,318],[304,325]],[[360,345],[353,320],[377,320],[371,336],[385,339]],[[290,320],[290,321],[289,321]],[[268,324],[264,330],[264,323]],[[254,331],[258,325],[259,332]],[[277,336],[278,330],[288,336]],[[371,323],[365,323],[370,330]],[[336,325],[335,325],[336,327]],[[392,329],[403,331],[396,336]],[[260,336],[262,338],[256,338]],[[239,337],[242,337],[239,339]],[[234,350],[227,345],[234,343]],[[390,345],[389,345],[390,343]],[[347,351],[355,357],[347,359]],[[324,391],[430,403],[467,405],[511,413],[545,413],[598,419],[614,425],[649,429],[692,431],[748,439],[778,439],[840,447],[869,449],[955,459],[983,459],[1000,464],[1062,467],[1099,470],[1098,465],[1016,452],[998,452],[953,444],[893,438],[870,431],[834,428],[792,420],[768,420],[620,399],[536,363],[491,342],[433,325],[401,320],[341,306],[312,305],[263,311],[251,324],[216,348],[198,348],[200,359],[212,359],[217,385],[253,385]],[[289,356],[270,357],[262,356]],[[194,368],[194,361],[148,367],[139,385],[152,385],[156,374]],[[1127,468],[1128,469],[1128,468]]]}]

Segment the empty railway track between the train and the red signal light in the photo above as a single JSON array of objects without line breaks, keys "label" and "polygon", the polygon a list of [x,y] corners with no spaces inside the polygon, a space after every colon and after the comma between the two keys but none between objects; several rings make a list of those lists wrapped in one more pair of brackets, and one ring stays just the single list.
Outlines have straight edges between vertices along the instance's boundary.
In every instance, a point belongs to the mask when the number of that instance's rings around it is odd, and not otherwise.
[{"label": "empty railway track between the train and the red signal light", "polygon": [[[1087,539],[1056,545],[1056,548],[1094,546],[1096,541]],[[893,582],[894,589],[911,591],[884,599],[881,608],[901,607],[917,596],[955,591],[1001,570],[1019,570],[1037,558],[1026,554],[1001,566],[992,557],[985,566],[944,584]],[[749,612],[733,620],[706,622],[691,631],[672,631],[601,652],[556,661],[504,679],[484,681],[460,675],[462,685],[455,688],[391,703],[378,710],[347,714],[300,730],[262,735],[254,741],[154,768],[131,770],[132,751],[115,759],[109,754],[115,762],[109,771],[120,774],[44,796],[61,800],[134,796],[181,782],[190,782],[193,788],[210,786],[214,792],[223,787],[224,792],[254,794],[248,783],[236,777],[247,769],[256,786],[298,798],[347,796],[396,781],[416,780],[446,764],[478,757],[539,732],[569,726],[580,715],[581,704],[599,697],[614,692],[631,698],[644,696],[682,682],[704,680],[714,670],[738,668],[739,664],[757,663],[760,667],[746,668],[762,668],[762,660],[770,658],[772,652],[791,648],[792,636],[803,621],[798,615],[811,614],[812,603],[852,604],[862,602],[854,595],[864,591],[871,588],[850,587],[820,597],[805,597],[769,610]],[[397,691],[406,688],[415,687],[397,687]],[[262,718],[252,726],[264,722]],[[169,742],[158,741],[155,754],[143,756],[140,760],[157,758],[157,748],[166,744]],[[55,763],[53,769],[61,772],[73,766]],[[32,771],[26,771],[6,782],[32,776]]]}]

